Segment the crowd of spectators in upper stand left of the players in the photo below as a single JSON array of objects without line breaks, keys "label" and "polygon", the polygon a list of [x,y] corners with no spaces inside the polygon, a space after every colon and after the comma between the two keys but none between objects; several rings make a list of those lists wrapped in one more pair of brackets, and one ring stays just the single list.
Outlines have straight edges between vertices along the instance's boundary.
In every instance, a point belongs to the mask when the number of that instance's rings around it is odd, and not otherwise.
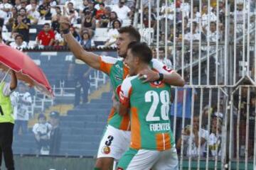
[{"label": "crowd of spectators in upper stand left of the players", "polygon": [[[63,46],[66,43],[58,21],[67,16],[72,23],[70,31],[83,47],[114,47],[117,30],[131,23],[133,10],[134,1],[126,0],[4,0],[0,2],[0,30],[4,42],[18,50]],[[107,41],[95,45],[97,28],[106,28]]]}]

